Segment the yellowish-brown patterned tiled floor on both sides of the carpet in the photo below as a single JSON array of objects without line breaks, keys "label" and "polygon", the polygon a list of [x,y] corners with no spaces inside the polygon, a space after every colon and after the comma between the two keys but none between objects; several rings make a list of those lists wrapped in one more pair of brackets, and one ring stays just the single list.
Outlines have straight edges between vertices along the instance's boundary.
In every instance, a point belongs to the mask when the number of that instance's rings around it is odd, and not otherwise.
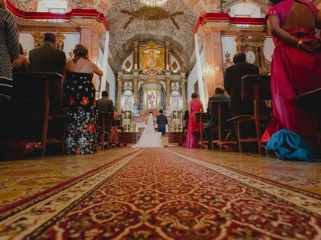
[{"label": "yellowish-brown patterned tiled floor on both sides of the carpet", "polygon": [[[169,147],[200,159],[321,194],[321,162],[265,159],[257,154]],[[137,149],[100,150],[88,155],[64,155],[0,162],[0,207],[78,176]]]}]

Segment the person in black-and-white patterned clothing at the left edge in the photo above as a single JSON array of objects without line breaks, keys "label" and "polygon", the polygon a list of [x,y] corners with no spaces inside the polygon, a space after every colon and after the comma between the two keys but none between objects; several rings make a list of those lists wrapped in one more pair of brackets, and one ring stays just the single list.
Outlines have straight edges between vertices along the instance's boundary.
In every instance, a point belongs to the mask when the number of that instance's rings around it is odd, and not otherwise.
[{"label": "person in black-and-white patterned clothing at the left edge", "polygon": [[11,63],[19,57],[16,21],[7,11],[7,1],[0,0],[0,100],[1,109],[11,98],[13,88]]}]

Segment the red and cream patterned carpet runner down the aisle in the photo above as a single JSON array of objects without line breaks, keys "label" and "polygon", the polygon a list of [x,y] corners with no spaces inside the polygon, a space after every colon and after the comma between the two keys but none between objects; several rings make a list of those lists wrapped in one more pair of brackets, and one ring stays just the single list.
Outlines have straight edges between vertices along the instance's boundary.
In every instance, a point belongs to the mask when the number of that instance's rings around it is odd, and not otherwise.
[{"label": "red and cream patterned carpet runner down the aisle", "polygon": [[0,215],[0,239],[321,239],[321,197],[161,148]]}]

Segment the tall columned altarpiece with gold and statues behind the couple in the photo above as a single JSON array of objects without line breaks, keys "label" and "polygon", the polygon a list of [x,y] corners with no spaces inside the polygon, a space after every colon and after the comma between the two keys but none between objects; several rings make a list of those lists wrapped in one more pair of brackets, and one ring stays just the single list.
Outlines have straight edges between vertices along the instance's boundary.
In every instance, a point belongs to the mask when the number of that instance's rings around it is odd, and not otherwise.
[{"label": "tall columned altarpiece with gold and statues behind the couple", "polygon": [[122,69],[116,69],[115,105],[125,132],[142,132],[149,112],[156,119],[159,109],[168,118],[167,133],[183,131],[188,71],[181,69],[171,48],[169,41],[134,41],[132,54],[124,59]]}]

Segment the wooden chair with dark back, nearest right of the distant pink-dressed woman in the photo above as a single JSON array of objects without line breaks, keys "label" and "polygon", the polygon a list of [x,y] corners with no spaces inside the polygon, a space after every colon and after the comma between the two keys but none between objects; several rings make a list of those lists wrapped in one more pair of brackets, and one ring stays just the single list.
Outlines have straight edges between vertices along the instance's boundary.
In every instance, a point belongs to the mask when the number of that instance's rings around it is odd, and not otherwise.
[{"label": "wooden chair with dark back, nearest right of the distant pink-dressed woman", "polygon": [[[231,116],[229,103],[230,103],[229,101],[211,101],[210,102],[210,114],[217,116],[218,118],[218,126],[217,128],[215,128],[218,133],[218,138],[213,139],[213,135],[212,135],[212,149],[214,149],[214,143],[217,143],[219,145],[220,150],[222,146],[237,145],[236,141],[228,141],[223,139],[223,131],[227,129],[225,127],[227,122],[224,122],[224,121],[226,121],[227,118]],[[231,129],[229,129],[229,132],[231,132]]]}]

